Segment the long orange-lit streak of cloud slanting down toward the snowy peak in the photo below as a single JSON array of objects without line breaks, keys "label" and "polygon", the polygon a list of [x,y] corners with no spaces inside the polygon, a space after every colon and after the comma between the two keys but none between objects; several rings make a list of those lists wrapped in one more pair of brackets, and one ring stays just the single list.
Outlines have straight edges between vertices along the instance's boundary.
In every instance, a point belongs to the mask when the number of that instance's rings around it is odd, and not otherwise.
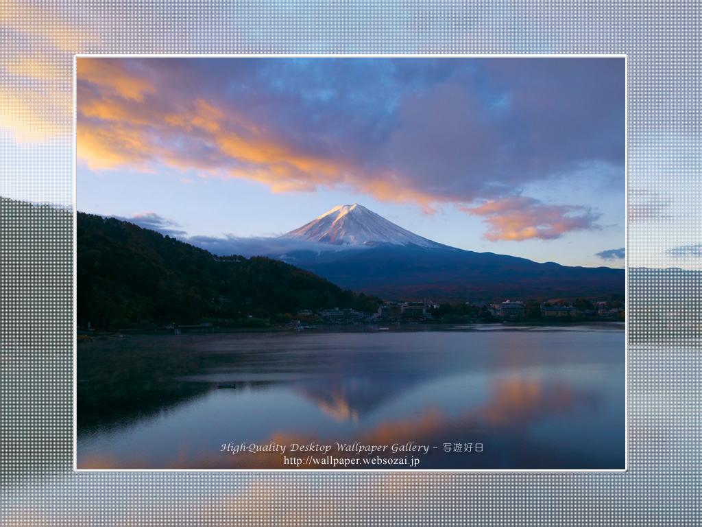
[{"label": "long orange-lit streak of cloud slanting down toward the snowy peak", "polygon": [[[155,97],[145,98],[153,95],[152,84],[127,73],[124,81],[113,82],[124,67],[96,62],[79,59],[77,71],[79,81],[93,84],[99,93],[79,90],[79,116],[85,119],[79,119],[77,155],[91,169],[144,170],[153,162],[197,167],[200,176],[219,177],[225,168],[228,177],[264,183],[274,193],[348,187],[383,202],[435,210],[431,203],[437,196],[408,185],[401,174],[383,167],[370,174],[355,160],[305,150],[236,109],[203,98],[154,102]],[[192,148],[167,148],[169,138]]]}]

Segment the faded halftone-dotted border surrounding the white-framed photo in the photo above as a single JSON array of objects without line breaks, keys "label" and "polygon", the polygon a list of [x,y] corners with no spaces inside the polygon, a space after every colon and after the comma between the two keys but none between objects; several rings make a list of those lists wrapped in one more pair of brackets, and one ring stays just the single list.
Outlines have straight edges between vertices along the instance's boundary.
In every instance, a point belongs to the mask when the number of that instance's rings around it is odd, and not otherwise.
[{"label": "faded halftone-dotted border surrounding the white-framed photo", "polygon": [[[668,267],[680,233],[699,230],[698,3],[8,1],[0,11],[10,145],[0,194],[69,212],[74,53],[626,53],[632,268],[628,473],[74,474],[72,217],[3,202],[4,526],[698,523],[700,276],[642,269]],[[37,230],[13,231],[22,217]]]}]

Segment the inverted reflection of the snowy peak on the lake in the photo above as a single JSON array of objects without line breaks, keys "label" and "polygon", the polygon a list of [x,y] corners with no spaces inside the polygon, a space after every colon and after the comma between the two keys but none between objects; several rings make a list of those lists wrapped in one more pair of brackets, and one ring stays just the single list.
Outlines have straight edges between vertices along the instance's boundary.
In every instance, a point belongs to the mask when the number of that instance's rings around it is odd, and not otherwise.
[{"label": "inverted reflection of the snowy peak on the lake", "polygon": [[295,389],[334,419],[357,422],[420,381],[417,376],[336,377],[299,382]]}]

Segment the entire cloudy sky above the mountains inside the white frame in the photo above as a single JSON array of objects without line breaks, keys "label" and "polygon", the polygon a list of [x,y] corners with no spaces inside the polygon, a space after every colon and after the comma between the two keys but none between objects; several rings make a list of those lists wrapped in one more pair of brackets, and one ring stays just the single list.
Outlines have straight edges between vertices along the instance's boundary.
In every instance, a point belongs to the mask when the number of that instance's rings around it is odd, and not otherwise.
[{"label": "entire cloudy sky above the mountains inside the white frame", "polygon": [[246,254],[359,203],[452,247],[624,266],[622,57],[79,57],[76,79],[80,212]]}]

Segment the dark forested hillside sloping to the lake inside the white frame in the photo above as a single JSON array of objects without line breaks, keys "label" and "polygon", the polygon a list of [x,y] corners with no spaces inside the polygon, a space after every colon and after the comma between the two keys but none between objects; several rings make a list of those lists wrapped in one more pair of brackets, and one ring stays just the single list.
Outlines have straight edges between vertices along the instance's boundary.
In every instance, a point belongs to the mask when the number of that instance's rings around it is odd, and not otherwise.
[{"label": "dark forested hillside sloping to the lake inside the white frame", "polygon": [[264,257],[216,258],[125,221],[77,216],[77,318],[82,326],[150,327],[249,315],[284,320],[300,309],[376,311],[380,299],[343,291]]}]

